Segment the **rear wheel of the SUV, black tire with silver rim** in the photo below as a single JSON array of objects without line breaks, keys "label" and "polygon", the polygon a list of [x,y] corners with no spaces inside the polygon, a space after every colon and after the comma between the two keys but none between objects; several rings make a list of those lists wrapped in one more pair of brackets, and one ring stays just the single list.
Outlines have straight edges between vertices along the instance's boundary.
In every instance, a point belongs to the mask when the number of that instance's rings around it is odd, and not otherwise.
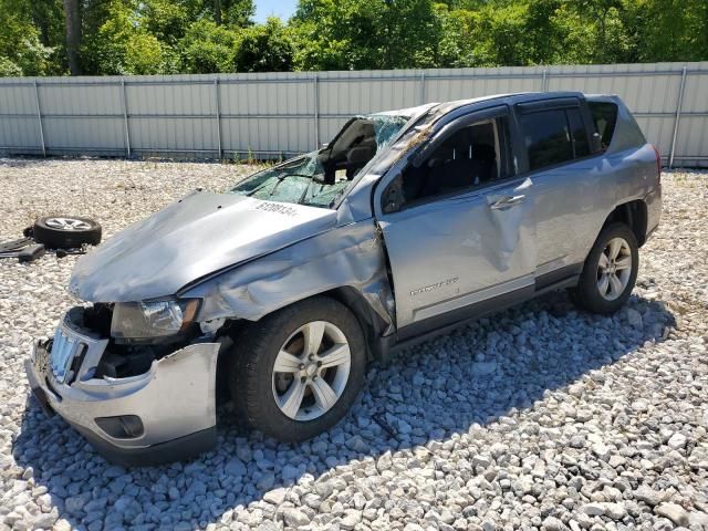
[{"label": "rear wheel of the SUV, black tire with silver rim", "polygon": [[[623,243],[617,254],[612,257],[620,241]],[[627,259],[629,259],[628,267],[626,267]],[[624,267],[621,268],[621,266]],[[636,236],[626,225],[612,223],[595,240],[583,266],[577,287],[571,291],[571,298],[583,310],[605,315],[612,314],[627,302],[637,280],[638,269],[639,247]]]}]

